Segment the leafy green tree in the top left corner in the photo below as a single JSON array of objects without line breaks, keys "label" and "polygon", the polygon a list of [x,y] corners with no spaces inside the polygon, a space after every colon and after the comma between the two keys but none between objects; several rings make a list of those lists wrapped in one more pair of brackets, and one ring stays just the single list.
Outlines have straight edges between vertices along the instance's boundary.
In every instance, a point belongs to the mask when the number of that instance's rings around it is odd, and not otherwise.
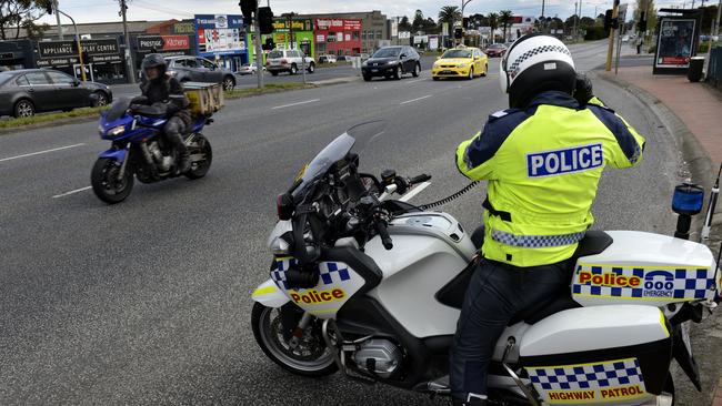
[{"label": "leafy green tree in the top left corner", "polygon": [[18,39],[24,30],[31,37],[44,28],[37,26],[51,0],[0,0],[0,40]]}]

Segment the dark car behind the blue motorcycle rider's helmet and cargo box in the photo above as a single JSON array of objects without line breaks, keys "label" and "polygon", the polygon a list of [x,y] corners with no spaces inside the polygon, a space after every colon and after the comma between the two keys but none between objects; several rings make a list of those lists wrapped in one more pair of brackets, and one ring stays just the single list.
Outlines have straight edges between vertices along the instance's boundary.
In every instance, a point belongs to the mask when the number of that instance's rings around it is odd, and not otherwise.
[{"label": "dark car behind the blue motorcycle rider's helmet and cargo box", "polygon": [[[200,57],[168,57],[168,73],[182,82],[220,83],[223,90],[235,88],[235,75],[232,71],[221,68],[205,58]],[[141,72],[141,81],[146,72]]]}]

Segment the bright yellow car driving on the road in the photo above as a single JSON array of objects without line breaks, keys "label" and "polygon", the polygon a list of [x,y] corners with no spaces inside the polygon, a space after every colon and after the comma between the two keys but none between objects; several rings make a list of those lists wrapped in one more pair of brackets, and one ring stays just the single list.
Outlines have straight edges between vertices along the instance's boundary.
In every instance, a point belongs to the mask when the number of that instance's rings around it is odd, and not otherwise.
[{"label": "bright yellow car driving on the road", "polygon": [[485,77],[489,69],[489,58],[479,48],[458,47],[447,50],[433,63],[431,78],[467,78]]}]

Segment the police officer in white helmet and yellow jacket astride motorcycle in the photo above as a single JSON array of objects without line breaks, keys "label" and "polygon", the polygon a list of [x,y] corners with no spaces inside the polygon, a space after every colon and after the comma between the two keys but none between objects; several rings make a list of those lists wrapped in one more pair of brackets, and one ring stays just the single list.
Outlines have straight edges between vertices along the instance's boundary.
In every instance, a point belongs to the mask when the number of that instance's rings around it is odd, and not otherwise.
[{"label": "police officer in white helmet and yellow jacket astride motorcycle", "polygon": [[578,81],[569,49],[553,37],[520,38],[502,58],[500,82],[510,109],[457,151],[461,173],[489,184],[482,260],[451,348],[454,405],[488,403],[487,369],[501,333],[514,315],[568,294],[569,260],[594,221],[604,166],[634,166],[644,149],[589,81]]}]

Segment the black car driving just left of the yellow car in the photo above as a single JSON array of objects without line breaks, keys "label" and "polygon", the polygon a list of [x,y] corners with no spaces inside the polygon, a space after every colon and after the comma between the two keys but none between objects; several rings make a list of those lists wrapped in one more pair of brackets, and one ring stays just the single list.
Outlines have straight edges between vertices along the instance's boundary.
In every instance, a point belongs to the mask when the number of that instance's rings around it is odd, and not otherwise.
[{"label": "black car driving just left of the yellow car", "polygon": [[384,47],[365,60],[361,67],[363,80],[373,77],[400,79],[404,73],[418,77],[421,73],[421,57],[411,47]]}]

